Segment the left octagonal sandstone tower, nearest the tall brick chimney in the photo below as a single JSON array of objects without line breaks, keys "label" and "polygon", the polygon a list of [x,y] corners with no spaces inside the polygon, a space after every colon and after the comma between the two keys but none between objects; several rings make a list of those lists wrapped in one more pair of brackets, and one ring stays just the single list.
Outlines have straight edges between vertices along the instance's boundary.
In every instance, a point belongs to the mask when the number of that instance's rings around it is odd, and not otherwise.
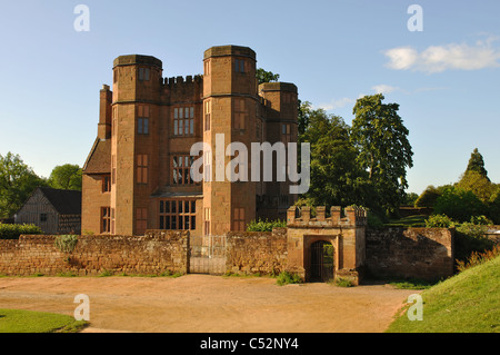
[{"label": "left octagonal sandstone tower, nearest the tall brick chimney", "polygon": [[154,57],[121,56],[113,62],[110,217],[114,234],[133,234],[137,220],[148,219],[149,196],[158,185],[158,175],[150,172],[158,164],[154,127],[161,80],[162,62]]}]

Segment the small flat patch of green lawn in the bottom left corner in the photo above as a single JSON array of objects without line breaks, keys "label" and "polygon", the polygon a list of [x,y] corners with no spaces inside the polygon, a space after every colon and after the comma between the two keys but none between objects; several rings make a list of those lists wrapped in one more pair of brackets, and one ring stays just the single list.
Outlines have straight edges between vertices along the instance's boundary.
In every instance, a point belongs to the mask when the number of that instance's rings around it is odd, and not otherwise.
[{"label": "small flat patch of green lawn in the bottom left corner", "polygon": [[0,333],[76,333],[86,324],[61,314],[0,309]]}]

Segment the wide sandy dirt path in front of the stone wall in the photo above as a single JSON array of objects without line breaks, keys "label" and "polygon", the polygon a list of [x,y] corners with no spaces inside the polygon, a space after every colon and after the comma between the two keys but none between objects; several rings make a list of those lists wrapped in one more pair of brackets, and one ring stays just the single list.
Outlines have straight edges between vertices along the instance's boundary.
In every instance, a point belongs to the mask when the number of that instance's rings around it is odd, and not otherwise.
[{"label": "wide sandy dirt path in front of the stone wall", "polygon": [[377,333],[414,293],[208,275],[0,278],[0,308],[73,315],[74,296],[86,294],[91,327],[84,332]]}]

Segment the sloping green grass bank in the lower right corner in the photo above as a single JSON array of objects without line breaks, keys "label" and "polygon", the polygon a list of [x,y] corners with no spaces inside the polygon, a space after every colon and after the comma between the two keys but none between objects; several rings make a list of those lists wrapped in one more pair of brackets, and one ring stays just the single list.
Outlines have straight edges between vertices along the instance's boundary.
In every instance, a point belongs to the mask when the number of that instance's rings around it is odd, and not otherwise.
[{"label": "sloping green grass bank in the lower right corner", "polygon": [[421,293],[423,321],[404,313],[388,333],[500,333],[500,256]]}]

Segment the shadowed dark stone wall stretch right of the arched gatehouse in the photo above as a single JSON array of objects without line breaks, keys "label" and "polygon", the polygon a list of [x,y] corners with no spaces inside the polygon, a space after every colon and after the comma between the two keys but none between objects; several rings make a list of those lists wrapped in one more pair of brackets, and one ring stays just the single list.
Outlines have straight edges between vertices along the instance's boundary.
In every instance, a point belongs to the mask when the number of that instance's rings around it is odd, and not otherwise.
[{"label": "shadowed dark stone wall stretch right of the arched gatehouse", "polygon": [[367,229],[366,260],[376,277],[439,279],[453,275],[454,229]]}]

